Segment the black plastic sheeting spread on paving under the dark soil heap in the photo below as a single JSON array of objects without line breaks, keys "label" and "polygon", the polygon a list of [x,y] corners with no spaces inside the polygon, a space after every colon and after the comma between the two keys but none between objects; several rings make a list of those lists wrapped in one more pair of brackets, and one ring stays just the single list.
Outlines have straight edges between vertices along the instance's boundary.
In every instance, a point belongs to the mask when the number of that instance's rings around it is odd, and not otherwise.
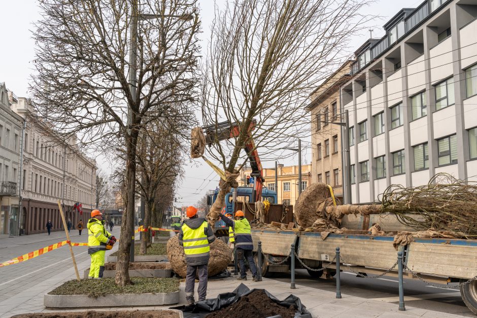
[{"label": "black plastic sheeting spread on paving under the dark soil heap", "polygon": [[[211,298],[205,301],[199,301],[195,303],[194,306],[179,306],[179,307],[171,307],[169,309],[182,310],[184,314],[184,318],[203,318],[207,316],[209,313],[211,313],[212,311],[225,308],[233,304],[234,302],[236,302],[242,296],[246,296],[256,290],[259,290],[259,289],[250,290],[246,285],[240,284],[240,286],[238,286],[233,292],[219,294],[217,298]],[[275,298],[275,296],[271,295],[266,290],[263,290],[263,291],[272,301],[276,302],[277,304],[280,304],[286,307],[290,307],[291,305],[294,305],[297,308],[297,312],[295,313],[295,318],[312,318],[311,313],[308,310],[306,310],[306,307],[301,303],[301,300],[298,297],[294,295],[290,295],[284,300],[278,300],[277,298]],[[273,316],[273,317],[278,318],[281,316]]]}]

